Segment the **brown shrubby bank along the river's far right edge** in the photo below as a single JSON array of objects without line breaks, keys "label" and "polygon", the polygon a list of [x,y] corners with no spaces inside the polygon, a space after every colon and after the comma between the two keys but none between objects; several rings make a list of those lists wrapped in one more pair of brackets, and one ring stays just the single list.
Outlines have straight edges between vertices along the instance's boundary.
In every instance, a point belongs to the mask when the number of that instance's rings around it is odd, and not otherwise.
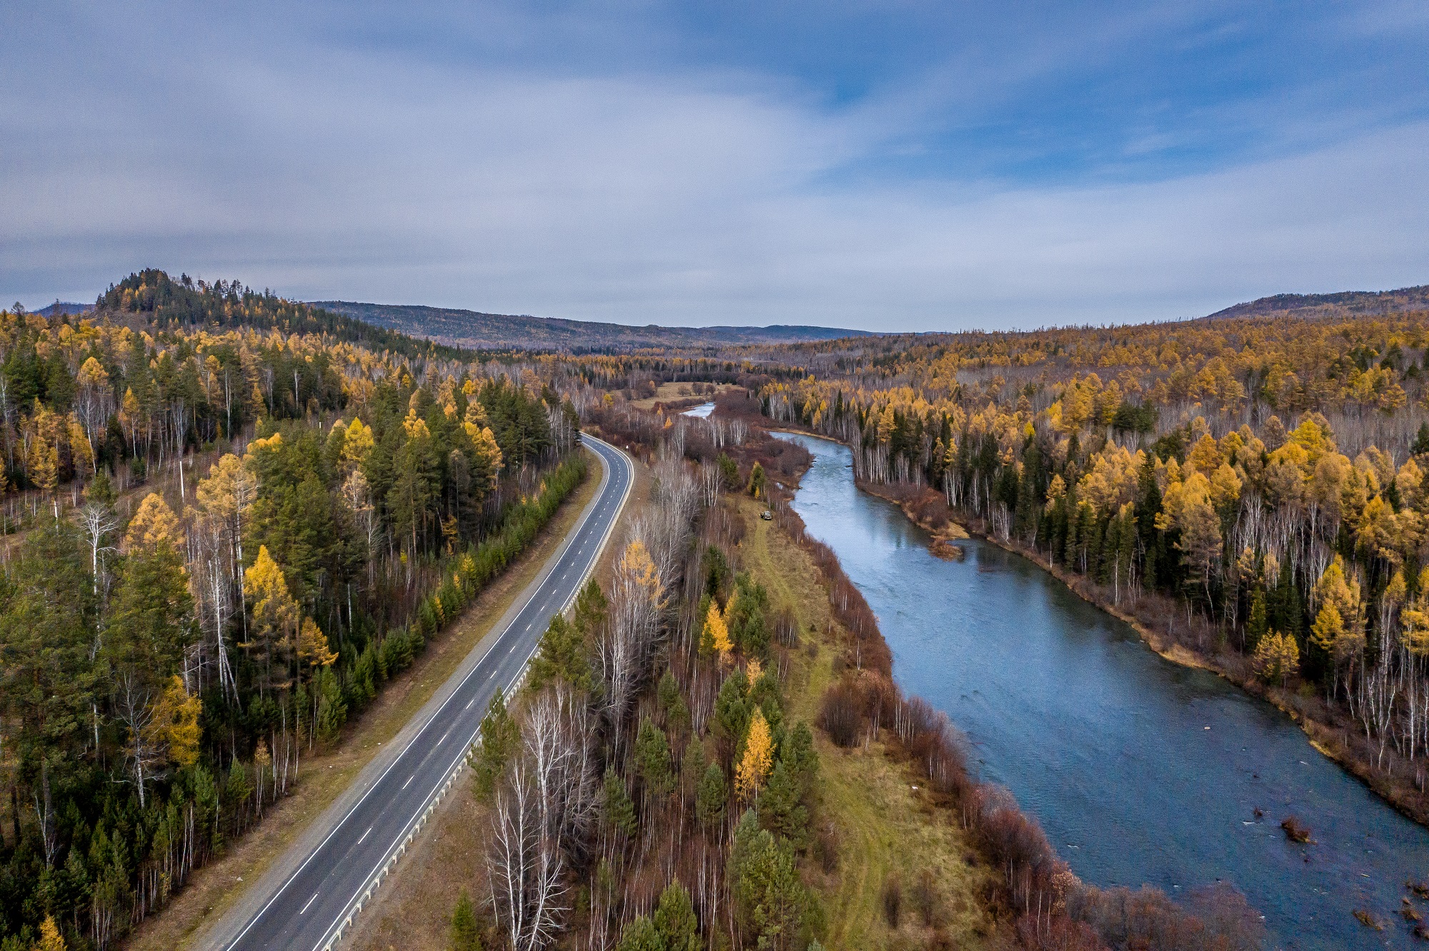
[{"label": "brown shrubby bank along the river's far right edge", "polygon": [[[819,436],[809,433],[809,436]],[[819,438],[827,438],[819,436]],[[1265,700],[1290,717],[1309,737],[1320,754],[1339,764],[1346,773],[1360,780],[1376,795],[1405,817],[1429,827],[1429,794],[1420,790],[1408,775],[1410,767],[1393,750],[1385,751],[1386,767],[1376,765],[1379,750],[1363,735],[1359,724],[1348,715],[1326,705],[1316,693],[1282,690],[1266,685],[1256,678],[1249,658],[1233,650],[1225,650],[1225,634],[1216,628],[1199,624],[1190,617],[1180,625],[1183,604],[1165,595],[1136,593],[1135,600],[1117,598],[1106,585],[1099,585],[1085,575],[1066,571],[1046,554],[1019,544],[1015,540],[999,538],[980,518],[956,513],[940,493],[929,487],[895,487],[856,480],[860,490],[890,501],[916,525],[936,540],[969,534],[1020,555],[1057,578],[1073,594],[1095,604],[1119,621],[1126,623],[1160,657],[1183,667],[1208,670],[1248,694]],[[932,497],[932,498],[930,498]],[[1396,767],[1400,771],[1396,774]],[[1313,821],[1313,820],[1312,820]]]}]

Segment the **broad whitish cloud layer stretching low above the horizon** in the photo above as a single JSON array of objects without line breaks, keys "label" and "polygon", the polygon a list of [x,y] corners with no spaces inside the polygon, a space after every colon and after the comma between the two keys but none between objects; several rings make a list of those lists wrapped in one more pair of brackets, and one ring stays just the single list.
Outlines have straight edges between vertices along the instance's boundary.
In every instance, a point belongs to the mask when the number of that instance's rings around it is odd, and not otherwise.
[{"label": "broad whitish cloud layer stretching low above the horizon", "polygon": [[906,101],[211,37],[160,66],[161,34],[129,39],[146,66],[114,87],[101,61],[0,104],[4,140],[37,146],[0,157],[0,300],[160,266],[303,298],[927,330],[1429,280],[1423,124],[1146,184],[870,184],[836,173],[909,131]]}]

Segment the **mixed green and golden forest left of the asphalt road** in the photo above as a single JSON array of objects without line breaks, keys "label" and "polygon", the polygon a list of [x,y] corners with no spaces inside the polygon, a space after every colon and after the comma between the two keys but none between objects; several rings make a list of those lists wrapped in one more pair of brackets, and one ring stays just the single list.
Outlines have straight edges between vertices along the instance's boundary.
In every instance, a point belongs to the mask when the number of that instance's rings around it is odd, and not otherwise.
[{"label": "mixed green and golden forest left of the asphalt road", "polygon": [[4,951],[161,908],[586,471],[512,354],[160,271],[99,304],[0,311]]}]

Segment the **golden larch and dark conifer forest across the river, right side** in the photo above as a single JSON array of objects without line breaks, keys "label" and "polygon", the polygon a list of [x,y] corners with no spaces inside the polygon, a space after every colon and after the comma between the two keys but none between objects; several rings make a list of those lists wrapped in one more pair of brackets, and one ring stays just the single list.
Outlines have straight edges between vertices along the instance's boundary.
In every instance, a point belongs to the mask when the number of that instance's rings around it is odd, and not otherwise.
[{"label": "golden larch and dark conifer forest across the river, right side", "polygon": [[1343,758],[1423,820],[1426,344],[1429,316],[1390,313],[812,346],[769,351],[807,374],[762,400],[915,513],[940,495],[1343,723]]}]

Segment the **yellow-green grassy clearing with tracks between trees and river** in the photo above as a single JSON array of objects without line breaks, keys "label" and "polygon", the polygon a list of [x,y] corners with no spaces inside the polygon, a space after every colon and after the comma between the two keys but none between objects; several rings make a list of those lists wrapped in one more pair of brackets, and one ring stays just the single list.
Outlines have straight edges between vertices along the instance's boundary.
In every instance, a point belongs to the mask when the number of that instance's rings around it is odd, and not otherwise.
[{"label": "yellow-green grassy clearing with tracks between trees and river", "polygon": [[[743,511],[752,530],[740,544],[746,570],[769,590],[773,611],[787,607],[799,620],[803,648],[792,654],[787,691],[793,717],[815,720],[819,698],[833,681],[837,630],[817,567],[807,553],[773,523]],[[886,755],[883,744],[840,750],[815,734],[822,764],[820,822],[832,824],[839,864],[815,872],[823,895],[829,948],[927,947],[935,934],[957,948],[980,947],[990,922],[979,901],[989,871],[970,865],[973,854],[963,831],[939,810],[905,764]],[[927,927],[910,901],[913,885],[932,872],[937,895],[937,927]],[[890,874],[902,881],[903,914],[897,930],[883,912],[883,887]]]}]

